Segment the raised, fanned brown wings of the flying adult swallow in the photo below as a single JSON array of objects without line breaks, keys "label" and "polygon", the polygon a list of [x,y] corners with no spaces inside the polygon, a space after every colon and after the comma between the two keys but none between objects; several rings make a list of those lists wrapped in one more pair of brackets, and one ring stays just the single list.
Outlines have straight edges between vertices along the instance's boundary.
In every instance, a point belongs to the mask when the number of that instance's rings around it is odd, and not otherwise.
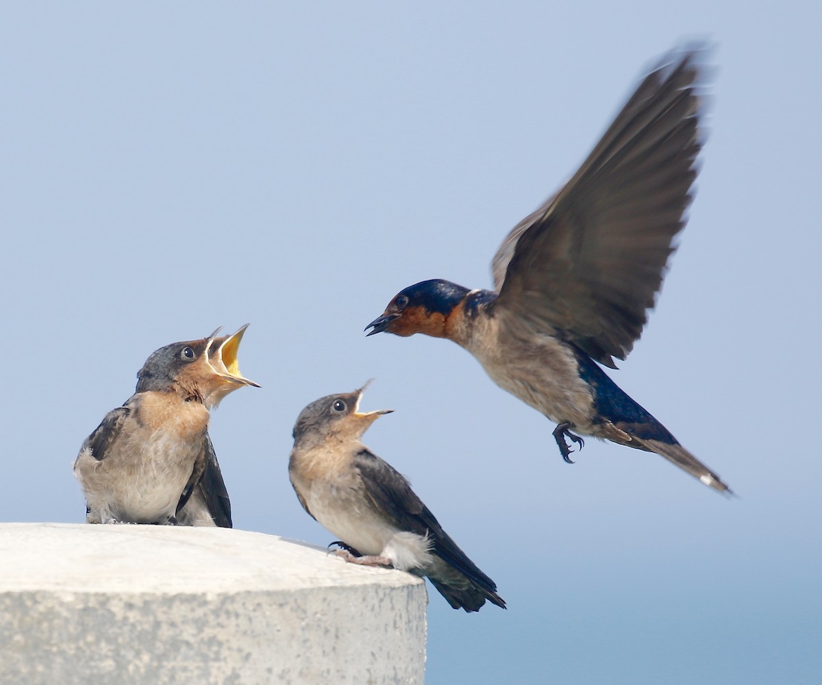
[{"label": "raised, fanned brown wings of the flying adult swallow", "polygon": [[649,74],[570,182],[506,238],[492,270],[508,321],[559,329],[612,368],[630,353],[691,200],[698,55]]}]

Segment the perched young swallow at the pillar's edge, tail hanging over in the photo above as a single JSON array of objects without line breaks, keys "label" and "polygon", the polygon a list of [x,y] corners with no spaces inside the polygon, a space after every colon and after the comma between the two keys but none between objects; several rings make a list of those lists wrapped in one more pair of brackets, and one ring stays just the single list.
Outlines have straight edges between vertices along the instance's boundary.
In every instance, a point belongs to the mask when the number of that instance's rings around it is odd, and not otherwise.
[{"label": "perched young swallow at the pillar's edge, tail hanging over", "polygon": [[427,576],[453,609],[478,611],[486,600],[506,609],[494,581],[442,530],[409,481],[361,442],[392,411],[360,412],[366,386],[322,397],[299,415],[289,477],[302,508],[339,537],[332,544],[347,562]]}]

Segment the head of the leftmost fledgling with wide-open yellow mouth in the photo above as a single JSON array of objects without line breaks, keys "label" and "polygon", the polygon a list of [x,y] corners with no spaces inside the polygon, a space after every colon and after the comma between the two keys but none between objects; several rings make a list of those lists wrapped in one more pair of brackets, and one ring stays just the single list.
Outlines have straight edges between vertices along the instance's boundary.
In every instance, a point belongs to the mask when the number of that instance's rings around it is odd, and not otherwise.
[{"label": "head of the leftmost fledgling with wide-open yellow mouth", "polygon": [[177,391],[213,407],[238,387],[259,387],[242,376],[238,364],[240,340],[247,327],[219,338],[218,328],[207,338],[161,347],[137,372],[136,391]]}]

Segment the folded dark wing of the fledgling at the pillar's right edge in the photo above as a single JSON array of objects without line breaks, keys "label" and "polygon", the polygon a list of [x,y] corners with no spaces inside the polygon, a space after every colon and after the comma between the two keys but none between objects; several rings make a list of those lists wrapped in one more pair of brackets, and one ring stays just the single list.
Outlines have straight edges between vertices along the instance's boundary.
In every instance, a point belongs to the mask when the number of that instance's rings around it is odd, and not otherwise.
[{"label": "folded dark wing of the fledgling at the pillar's right edge", "polygon": [[372,506],[381,511],[400,530],[427,535],[432,541],[432,550],[443,561],[457,568],[478,585],[496,590],[494,581],[480,571],[450,535],[442,530],[439,521],[413,492],[402,474],[368,450],[361,450],[354,456],[354,465],[363,479]]}]

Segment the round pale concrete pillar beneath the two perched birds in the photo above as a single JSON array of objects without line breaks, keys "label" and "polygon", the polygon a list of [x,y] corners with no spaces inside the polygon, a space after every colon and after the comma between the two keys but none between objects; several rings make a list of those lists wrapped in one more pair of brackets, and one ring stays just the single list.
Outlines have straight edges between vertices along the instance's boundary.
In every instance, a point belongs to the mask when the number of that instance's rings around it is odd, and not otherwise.
[{"label": "round pale concrete pillar beneath the two perched birds", "polygon": [[275,535],[0,524],[0,683],[423,683],[426,602]]}]

